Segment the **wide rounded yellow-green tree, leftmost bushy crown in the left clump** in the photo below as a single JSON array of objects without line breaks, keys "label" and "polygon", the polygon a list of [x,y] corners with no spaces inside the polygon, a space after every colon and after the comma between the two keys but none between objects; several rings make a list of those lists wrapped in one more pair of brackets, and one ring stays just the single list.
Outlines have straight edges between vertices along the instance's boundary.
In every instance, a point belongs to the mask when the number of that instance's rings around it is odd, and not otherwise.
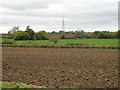
[{"label": "wide rounded yellow-green tree, leftmost bushy crown in the left clump", "polygon": [[30,38],[29,34],[24,31],[18,31],[14,36],[15,40],[28,40],[29,38]]}]

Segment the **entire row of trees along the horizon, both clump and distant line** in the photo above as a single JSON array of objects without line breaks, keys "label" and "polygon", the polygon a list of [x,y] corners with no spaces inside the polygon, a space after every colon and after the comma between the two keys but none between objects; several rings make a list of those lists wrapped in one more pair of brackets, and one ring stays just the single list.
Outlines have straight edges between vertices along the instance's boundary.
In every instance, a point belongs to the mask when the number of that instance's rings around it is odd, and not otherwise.
[{"label": "entire row of trees along the horizon, both clump and distant line", "polygon": [[110,31],[94,31],[94,32],[85,32],[84,30],[80,31],[59,31],[55,32],[52,31],[51,33],[47,33],[46,31],[38,31],[34,32],[30,26],[26,27],[25,31],[19,30],[18,27],[13,27],[9,32],[8,35],[15,39],[15,40],[46,40],[47,34],[61,34],[61,39],[66,39],[65,34],[74,34],[73,39],[89,39],[89,38],[96,38],[96,39],[117,39],[120,38],[120,30],[116,32]]}]

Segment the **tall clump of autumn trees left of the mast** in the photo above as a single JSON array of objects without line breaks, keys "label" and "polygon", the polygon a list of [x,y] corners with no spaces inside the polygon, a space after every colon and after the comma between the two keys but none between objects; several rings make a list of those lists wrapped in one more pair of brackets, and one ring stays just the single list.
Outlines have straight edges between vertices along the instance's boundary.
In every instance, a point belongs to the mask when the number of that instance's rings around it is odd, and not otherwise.
[{"label": "tall clump of autumn trees left of the mast", "polygon": [[8,35],[14,40],[45,40],[47,33],[44,30],[34,32],[30,26],[27,26],[25,31],[21,31],[18,26],[8,31]]}]

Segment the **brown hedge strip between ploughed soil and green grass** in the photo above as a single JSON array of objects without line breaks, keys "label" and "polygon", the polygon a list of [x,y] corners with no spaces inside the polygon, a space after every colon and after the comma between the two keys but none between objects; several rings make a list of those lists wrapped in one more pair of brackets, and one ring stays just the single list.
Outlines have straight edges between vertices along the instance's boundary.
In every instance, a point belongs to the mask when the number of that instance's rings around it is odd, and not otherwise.
[{"label": "brown hedge strip between ploughed soil and green grass", "polygon": [[86,48],[86,49],[120,49],[120,46],[90,46],[90,45],[40,45],[40,44],[0,44],[1,47],[23,48]]}]

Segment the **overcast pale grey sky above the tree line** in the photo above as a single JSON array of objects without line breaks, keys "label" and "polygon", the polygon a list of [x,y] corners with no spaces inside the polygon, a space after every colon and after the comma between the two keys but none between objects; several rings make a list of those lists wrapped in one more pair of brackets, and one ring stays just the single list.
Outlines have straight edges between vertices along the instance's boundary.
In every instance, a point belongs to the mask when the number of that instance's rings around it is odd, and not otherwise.
[{"label": "overcast pale grey sky above the tree line", "polygon": [[12,27],[34,31],[118,30],[119,0],[0,0],[0,33]]}]

